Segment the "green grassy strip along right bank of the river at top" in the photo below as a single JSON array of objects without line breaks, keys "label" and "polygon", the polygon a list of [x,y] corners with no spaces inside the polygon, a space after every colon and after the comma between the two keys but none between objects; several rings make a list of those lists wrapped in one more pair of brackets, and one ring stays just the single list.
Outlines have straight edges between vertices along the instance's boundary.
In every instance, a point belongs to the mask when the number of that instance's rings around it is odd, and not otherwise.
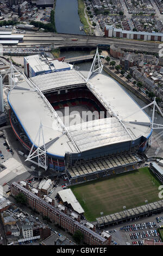
[{"label": "green grassy strip along right bank of the river at top", "polygon": [[87,35],[89,35],[91,28],[90,28],[89,23],[87,22],[86,17],[85,17],[85,4],[84,4],[83,0],[78,0],[78,14],[79,14],[80,21],[83,23],[84,32]]}]

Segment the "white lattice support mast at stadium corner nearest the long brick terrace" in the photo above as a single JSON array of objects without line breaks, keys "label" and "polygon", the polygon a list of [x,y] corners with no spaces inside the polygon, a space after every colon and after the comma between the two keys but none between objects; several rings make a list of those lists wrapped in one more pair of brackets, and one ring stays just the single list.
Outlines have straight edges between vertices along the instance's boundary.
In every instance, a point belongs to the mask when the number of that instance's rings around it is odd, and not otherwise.
[{"label": "white lattice support mast at stadium corner nearest the long brick terrace", "polygon": [[[42,136],[43,145],[40,147],[40,137]],[[39,137],[38,147],[36,150],[33,151],[36,139]],[[36,158],[36,161],[33,159]],[[40,123],[39,131],[37,132],[35,141],[30,149],[29,155],[25,161],[30,161],[32,163],[37,164],[37,166],[44,168],[47,170],[47,159],[46,159],[46,148],[45,148],[45,141],[43,138],[43,130],[42,130],[42,123]]]}]

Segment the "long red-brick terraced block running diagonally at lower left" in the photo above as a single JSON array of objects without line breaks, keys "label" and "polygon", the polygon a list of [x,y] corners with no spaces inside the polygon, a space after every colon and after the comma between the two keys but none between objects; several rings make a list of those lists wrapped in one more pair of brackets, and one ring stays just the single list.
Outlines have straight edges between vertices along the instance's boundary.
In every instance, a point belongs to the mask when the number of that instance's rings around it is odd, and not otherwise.
[{"label": "long red-brick terraced block running diagonally at lower left", "polygon": [[66,215],[64,212],[59,211],[57,208],[55,208],[55,206],[50,205],[45,202],[45,200],[37,197],[20,184],[12,182],[10,185],[10,190],[12,196],[16,196],[20,192],[23,193],[27,197],[27,204],[32,209],[35,209],[44,216],[47,216],[52,222],[55,222],[55,224],[58,224],[60,227],[69,231],[72,235],[75,233],[75,231],[80,230],[84,235],[83,241],[87,245],[110,245],[111,236],[109,236],[108,239],[102,237],[95,231],[87,228],[82,223],[73,220],[73,218]]}]

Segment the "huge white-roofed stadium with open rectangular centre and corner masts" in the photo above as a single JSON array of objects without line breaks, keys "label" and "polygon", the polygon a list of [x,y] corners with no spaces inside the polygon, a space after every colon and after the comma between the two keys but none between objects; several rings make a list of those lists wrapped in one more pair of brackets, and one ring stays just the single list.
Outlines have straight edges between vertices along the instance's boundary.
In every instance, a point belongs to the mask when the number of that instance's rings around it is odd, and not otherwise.
[{"label": "huge white-roofed stadium with open rectangular centre and corner masts", "polygon": [[71,184],[136,169],[152,135],[148,115],[96,70],[87,78],[74,69],[24,76],[8,95],[12,130],[27,160],[66,172]]}]

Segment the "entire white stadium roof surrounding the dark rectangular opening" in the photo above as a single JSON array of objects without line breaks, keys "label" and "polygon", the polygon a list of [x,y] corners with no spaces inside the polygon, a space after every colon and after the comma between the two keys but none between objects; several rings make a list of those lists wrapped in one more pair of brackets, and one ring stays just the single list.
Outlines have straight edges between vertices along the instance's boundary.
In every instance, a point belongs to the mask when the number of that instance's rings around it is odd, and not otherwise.
[{"label": "entire white stadium roof surrounding the dark rectangular opening", "polygon": [[[92,92],[99,101],[105,101],[114,117],[89,121],[87,125],[82,123],[83,129],[80,125],[65,127],[57,112],[40,92],[45,92],[45,88],[49,90],[84,84],[85,80],[78,71],[53,72],[33,77],[32,81],[24,78],[24,82],[17,84],[10,91],[8,101],[30,141],[35,142],[36,147],[43,145],[43,138],[40,138],[40,144],[39,136],[35,139],[42,123],[48,154],[64,158],[66,152],[79,153],[106,144],[151,135],[152,129],[147,114],[116,81],[108,76],[97,74],[90,78],[89,82],[92,84]],[[89,87],[89,84],[87,86]],[[123,118],[123,122],[120,121]]]}]

